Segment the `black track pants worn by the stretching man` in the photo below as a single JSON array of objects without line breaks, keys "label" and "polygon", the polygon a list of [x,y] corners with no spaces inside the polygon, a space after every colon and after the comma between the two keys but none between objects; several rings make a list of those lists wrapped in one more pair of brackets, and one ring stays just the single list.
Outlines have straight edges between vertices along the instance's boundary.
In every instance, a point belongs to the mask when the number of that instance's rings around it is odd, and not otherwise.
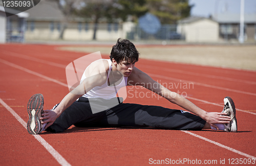
[{"label": "black track pants worn by the stretching man", "polygon": [[[57,105],[53,109],[56,107]],[[77,127],[132,126],[173,130],[201,130],[205,125],[205,121],[197,115],[182,110],[129,103],[121,103],[111,109],[93,114],[90,103],[87,100],[74,102],[62,112],[47,131],[63,132],[72,125]]]}]

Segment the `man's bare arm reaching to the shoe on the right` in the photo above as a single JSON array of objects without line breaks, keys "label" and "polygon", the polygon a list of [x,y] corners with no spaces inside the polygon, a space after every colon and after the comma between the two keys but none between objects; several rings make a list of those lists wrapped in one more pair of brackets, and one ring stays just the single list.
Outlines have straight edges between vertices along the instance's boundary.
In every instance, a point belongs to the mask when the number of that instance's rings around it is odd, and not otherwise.
[{"label": "man's bare arm reaching to the shoe on the right", "polygon": [[[130,76],[131,77],[131,76]],[[184,97],[180,96],[178,93],[170,91],[169,89],[165,88],[158,82],[154,81],[150,76],[143,73],[138,68],[134,68],[133,76],[129,78],[130,85],[141,85],[160,96],[164,97],[168,101],[179,105],[180,107],[195,113],[196,115],[200,116],[211,126],[218,128],[216,123],[229,123],[230,117],[225,116],[226,113],[222,112],[206,112],[203,109],[199,108],[189,100],[185,99]]]}]

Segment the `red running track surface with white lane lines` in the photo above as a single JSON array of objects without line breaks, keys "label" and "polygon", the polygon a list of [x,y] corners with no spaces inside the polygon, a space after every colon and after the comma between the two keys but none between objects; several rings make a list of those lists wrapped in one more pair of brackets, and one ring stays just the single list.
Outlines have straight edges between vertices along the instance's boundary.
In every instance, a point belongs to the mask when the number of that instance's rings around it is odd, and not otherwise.
[{"label": "red running track surface with white lane lines", "polygon": [[[30,97],[44,94],[44,109],[51,109],[69,92],[65,66],[86,55],[56,47],[0,45],[0,165],[152,165],[166,159],[183,165],[234,165],[232,158],[253,165],[256,160],[256,72],[244,70],[144,59],[136,63],[208,112],[221,112],[223,98],[230,96],[237,108],[238,133],[71,126],[63,133],[28,134],[23,125]],[[127,90],[125,103],[180,109],[145,89]]]}]

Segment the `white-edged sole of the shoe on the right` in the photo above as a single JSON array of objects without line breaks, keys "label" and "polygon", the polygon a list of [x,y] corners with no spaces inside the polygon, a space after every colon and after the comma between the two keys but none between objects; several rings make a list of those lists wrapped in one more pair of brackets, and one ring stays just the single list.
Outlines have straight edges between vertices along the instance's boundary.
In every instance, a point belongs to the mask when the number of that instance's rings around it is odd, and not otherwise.
[{"label": "white-edged sole of the shoe on the right", "polygon": [[228,103],[229,108],[230,108],[230,117],[231,114],[233,114],[232,120],[231,120],[231,129],[230,132],[237,132],[238,130],[238,125],[237,125],[237,118],[236,118],[236,106],[234,106],[234,102],[230,97],[224,98],[224,104],[226,105]]}]

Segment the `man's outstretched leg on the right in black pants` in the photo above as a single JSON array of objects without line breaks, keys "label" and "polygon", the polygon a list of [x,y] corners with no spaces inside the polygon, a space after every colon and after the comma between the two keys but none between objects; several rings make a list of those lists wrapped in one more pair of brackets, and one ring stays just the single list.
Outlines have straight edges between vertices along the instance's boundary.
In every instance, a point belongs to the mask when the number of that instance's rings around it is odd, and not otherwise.
[{"label": "man's outstretched leg on the right in black pants", "polygon": [[205,121],[182,110],[139,104],[119,104],[106,111],[101,123],[110,126],[154,127],[174,130],[201,130]]}]

